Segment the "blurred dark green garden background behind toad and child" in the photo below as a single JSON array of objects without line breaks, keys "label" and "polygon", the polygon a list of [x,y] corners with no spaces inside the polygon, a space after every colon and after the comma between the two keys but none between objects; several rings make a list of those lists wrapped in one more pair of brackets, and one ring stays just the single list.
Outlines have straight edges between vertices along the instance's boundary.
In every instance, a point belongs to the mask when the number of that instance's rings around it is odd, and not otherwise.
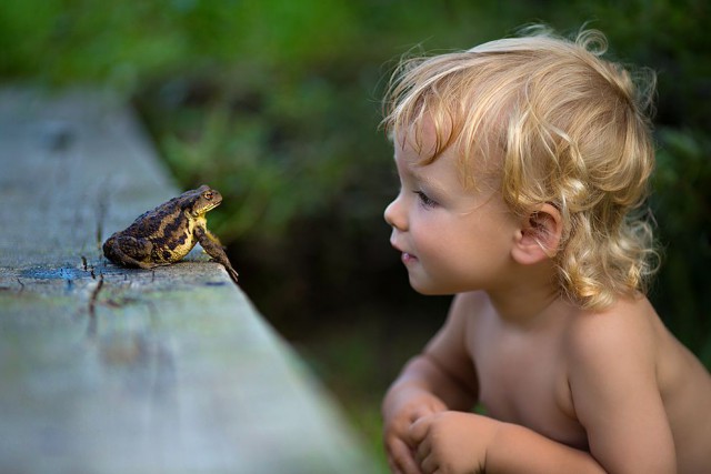
[{"label": "blurred dark green garden background behind toad and child", "polygon": [[380,99],[398,58],[545,22],[605,32],[659,73],[651,299],[711,366],[708,0],[3,0],[0,80],[131,101],[181,189],[209,183],[241,285],[382,458],[379,403],[448,299],[408,286],[382,210],[395,192]]}]

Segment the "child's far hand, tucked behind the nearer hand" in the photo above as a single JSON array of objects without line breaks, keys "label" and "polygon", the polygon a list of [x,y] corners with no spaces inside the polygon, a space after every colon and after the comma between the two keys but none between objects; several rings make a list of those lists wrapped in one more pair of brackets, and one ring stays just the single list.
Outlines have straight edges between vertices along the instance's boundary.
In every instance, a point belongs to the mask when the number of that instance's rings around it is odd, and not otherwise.
[{"label": "child's far hand, tucked behind the nearer hand", "polygon": [[422,417],[432,416],[447,410],[437,396],[420,392],[407,399],[393,414],[384,420],[384,441],[388,464],[395,474],[421,474],[415,461],[415,445],[410,437],[410,427]]}]

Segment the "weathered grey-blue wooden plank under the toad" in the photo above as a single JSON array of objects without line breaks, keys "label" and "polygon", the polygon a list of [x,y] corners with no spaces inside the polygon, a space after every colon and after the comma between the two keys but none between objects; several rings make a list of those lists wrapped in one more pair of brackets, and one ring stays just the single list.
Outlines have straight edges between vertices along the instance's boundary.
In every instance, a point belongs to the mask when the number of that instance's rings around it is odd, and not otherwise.
[{"label": "weathered grey-blue wooden plank under the toad", "polygon": [[127,108],[6,89],[0,143],[0,472],[377,471],[220,265],[102,258],[178,193]]}]

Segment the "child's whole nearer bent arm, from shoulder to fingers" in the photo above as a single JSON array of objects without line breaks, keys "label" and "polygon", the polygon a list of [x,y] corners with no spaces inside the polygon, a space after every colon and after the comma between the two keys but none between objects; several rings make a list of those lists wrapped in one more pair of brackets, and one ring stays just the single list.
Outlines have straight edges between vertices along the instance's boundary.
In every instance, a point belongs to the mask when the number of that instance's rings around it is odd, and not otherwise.
[{"label": "child's whole nearer bent arm, from shoulder to fingers", "polygon": [[589,453],[523,426],[442,412],[420,418],[409,432],[421,472],[677,472],[650,320],[634,311],[583,315],[565,341],[569,383]]}]

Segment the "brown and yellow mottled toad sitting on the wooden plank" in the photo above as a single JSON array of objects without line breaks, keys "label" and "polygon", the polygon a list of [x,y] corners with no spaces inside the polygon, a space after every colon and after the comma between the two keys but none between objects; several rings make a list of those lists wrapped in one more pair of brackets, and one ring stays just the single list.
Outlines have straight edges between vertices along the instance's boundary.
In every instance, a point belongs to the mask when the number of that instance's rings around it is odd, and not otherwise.
[{"label": "brown and yellow mottled toad sitting on the wooden plank", "polygon": [[208,231],[206,214],[220,205],[222,195],[203,184],[186,191],[139,215],[126,230],[116,232],[103,243],[103,254],[123,266],[153,269],[182,260],[200,245],[216,262],[222,264],[237,282],[222,244]]}]

